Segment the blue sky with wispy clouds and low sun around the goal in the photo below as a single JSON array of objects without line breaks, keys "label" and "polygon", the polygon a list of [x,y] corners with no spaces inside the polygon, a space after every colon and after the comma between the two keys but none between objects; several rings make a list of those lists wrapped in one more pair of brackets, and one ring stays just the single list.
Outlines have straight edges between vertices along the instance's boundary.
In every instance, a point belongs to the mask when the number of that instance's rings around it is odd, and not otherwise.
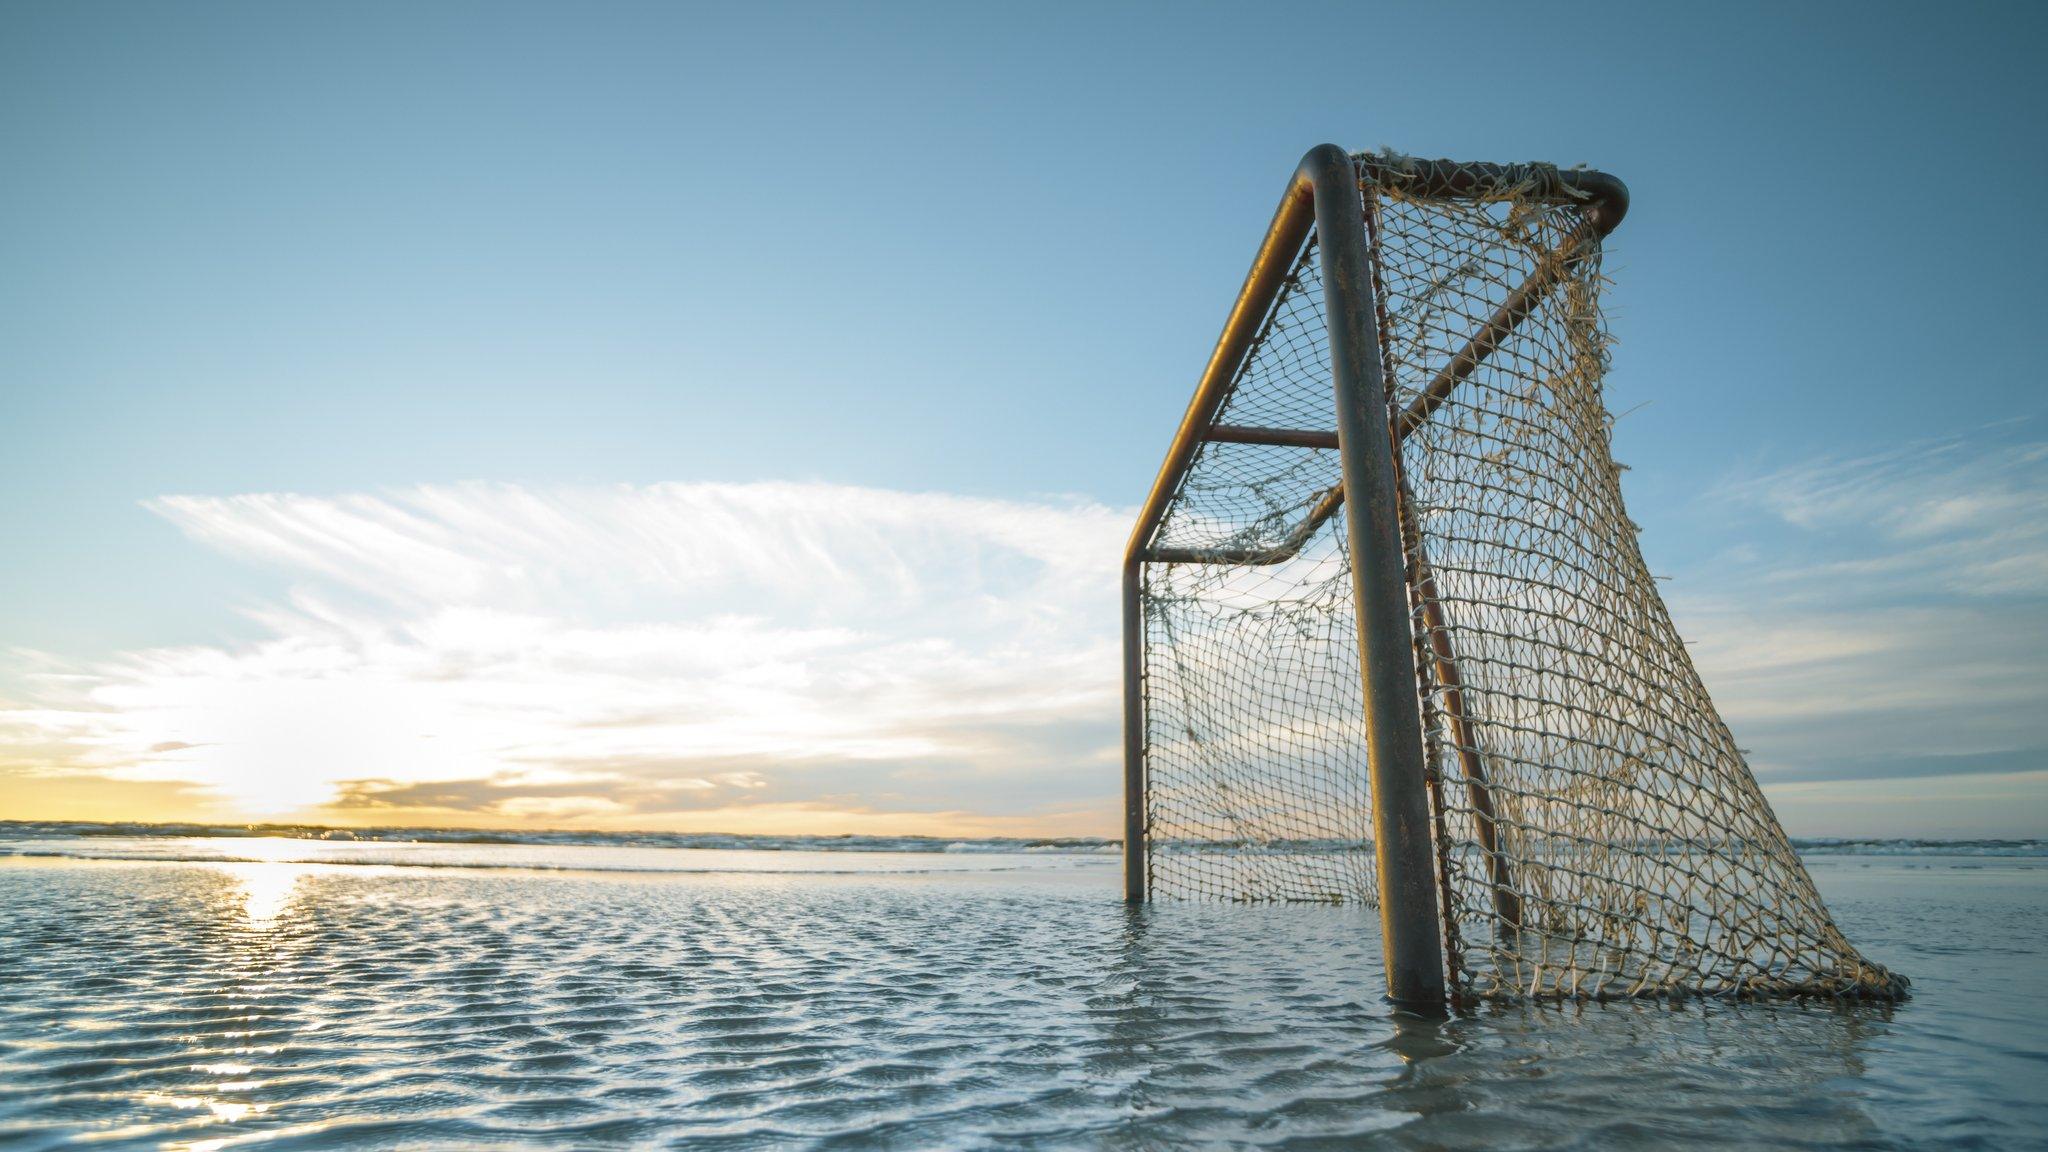
[{"label": "blue sky with wispy clouds and low sun around the goal", "polygon": [[0,818],[1116,834],[1122,539],[1333,141],[1630,184],[1624,490],[1794,836],[2048,834],[2044,33],[0,6]]}]

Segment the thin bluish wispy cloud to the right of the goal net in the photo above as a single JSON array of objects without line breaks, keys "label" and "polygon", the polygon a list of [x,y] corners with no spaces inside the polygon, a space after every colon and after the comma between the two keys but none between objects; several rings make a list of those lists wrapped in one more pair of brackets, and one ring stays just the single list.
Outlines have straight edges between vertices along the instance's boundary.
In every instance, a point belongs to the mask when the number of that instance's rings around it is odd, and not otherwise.
[{"label": "thin bluish wispy cloud to the right of the goal net", "polygon": [[2048,445],[2030,430],[1708,494],[1751,539],[1667,590],[1765,783],[2048,769]]}]

